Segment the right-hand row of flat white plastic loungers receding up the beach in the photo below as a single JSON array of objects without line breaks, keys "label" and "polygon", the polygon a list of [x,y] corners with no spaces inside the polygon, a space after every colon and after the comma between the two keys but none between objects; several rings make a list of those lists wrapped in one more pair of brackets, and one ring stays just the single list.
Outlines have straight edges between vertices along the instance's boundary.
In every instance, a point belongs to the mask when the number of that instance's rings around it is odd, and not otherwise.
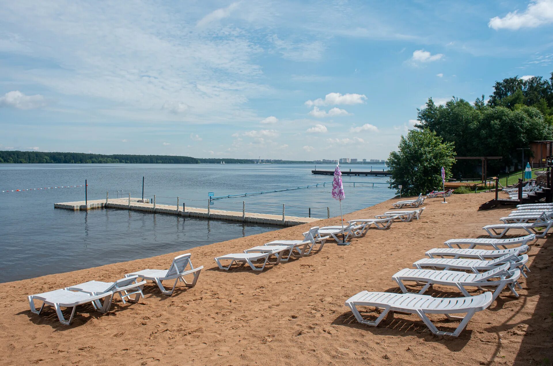
[{"label": "right-hand row of flat white plastic loungers receding up the beach", "polygon": [[[362,291],[346,300],[345,305],[363,324],[378,326],[390,311],[407,312],[418,315],[435,335],[457,337],[471,317],[490,306],[505,288],[519,296],[516,291],[516,287],[521,288],[518,279],[520,275],[526,277],[525,271],[530,272],[526,267],[528,255],[525,254],[529,250],[528,243],[547,235],[553,223],[552,215],[553,204],[519,205],[507,218],[501,218],[503,224],[483,227],[491,238],[450,239],[445,242],[447,248],[432,248],[425,253],[429,258],[419,259],[413,263],[414,268],[395,273],[392,278],[401,294]],[[502,238],[513,229],[525,230],[528,235]],[[468,248],[461,247],[465,245]],[[477,246],[489,249],[475,249]],[[406,281],[415,282],[422,288],[418,293],[410,293],[405,287]],[[424,295],[434,284],[455,287],[465,297],[434,298]],[[494,291],[471,296],[467,287],[494,288]],[[358,306],[371,306],[383,311],[377,319],[367,320],[357,309]],[[447,319],[461,320],[461,323],[453,332],[440,331],[427,314],[443,314]],[[466,315],[458,317],[451,314]]]}]

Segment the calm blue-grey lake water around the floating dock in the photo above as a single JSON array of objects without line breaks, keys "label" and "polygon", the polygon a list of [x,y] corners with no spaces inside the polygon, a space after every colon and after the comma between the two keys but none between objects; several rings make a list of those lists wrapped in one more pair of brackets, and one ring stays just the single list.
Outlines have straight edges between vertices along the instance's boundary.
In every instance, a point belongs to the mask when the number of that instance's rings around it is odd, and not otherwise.
[{"label": "calm blue-grey lake water around the floating dock", "polygon": [[[333,165],[317,165],[332,170]],[[344,166],[343,170],[369,170],[370,166]],[[373,168],[382,169],[382,165]],[[102,209],[69,211],[54,203],[156,195],[156,203],[206,207],[207,193],[216,196],[301,187],[332,181],[332,176],[311,174],[314,165],[150,165],[150,164],[0,164],[0,282],[67,272],[103,264],[147,258],[196,246],[259,234],[280,227],[241,222],[182,218],[174,215]],[[343,177],[345,182],[385,183],[387,177]],[[32,189],[11,192],[16,189]],[[46,188],[46,189],[44,189]],[[314,217],[340,215],[331,198],[332,184],[324,187],[217,200],[211,208]],[[345,183],[344,213],[380,203],[394,196],[387,184]],[[1,192],[10,191],[10,192]],[[197,200],[197,201],[194,201]],[[226,254],[226,253],[221,253]]]}]

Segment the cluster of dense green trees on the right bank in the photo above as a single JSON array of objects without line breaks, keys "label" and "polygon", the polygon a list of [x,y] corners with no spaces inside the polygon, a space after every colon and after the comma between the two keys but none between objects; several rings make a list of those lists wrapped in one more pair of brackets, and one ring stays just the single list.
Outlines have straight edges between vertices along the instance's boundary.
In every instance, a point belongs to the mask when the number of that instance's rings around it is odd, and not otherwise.
[{"label": "cluster of dense green trees on the right bank", "polygon": [[[441,187],[440,169],[446,179],[477,176],[479,160],[455,161],[455,156],[502,156],[488,161],[488,172],[497,174],[509,167],[523,168],[520,148],[531,141],[553,140],[553,72],[521,79],[511,77],[496,82],[494,92],[474,103],[451,98],[436,105],[429,98],[418,109],[414,130],[401,136],[398,151],[390,153],[390,188],[418,195]],[[528,155],[526,155],[528,154]],[[529,157],[526,150],[525,157]]]}]

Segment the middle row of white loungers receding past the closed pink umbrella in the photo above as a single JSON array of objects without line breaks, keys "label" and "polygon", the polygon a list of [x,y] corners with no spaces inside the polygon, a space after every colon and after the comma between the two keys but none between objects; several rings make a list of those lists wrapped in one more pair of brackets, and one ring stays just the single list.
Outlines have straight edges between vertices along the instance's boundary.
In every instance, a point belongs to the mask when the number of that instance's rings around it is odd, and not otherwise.
[{"label": "middle row of white loungers receding past the closed pink umbrella", "polygon": [[424,207],[409,211],[387,211],[371,219],[356,219],[348,221],[345,226],[314,226],[304,232],[302,240],[274,240],[264,245],[244,250],[242,253],[229,253],[216,257],[215,263],[220,269],[229,270],[233,264],[240,267],[248,265],[255,271],[262,271],[267,264],[288,262],[291,258],[301,258],[322,250],[327,240],[335,240],[338,244],[345,243],[352,237],[367,234],[371,227],[386,230],[394,220],[409,222],[419,219]]}]

